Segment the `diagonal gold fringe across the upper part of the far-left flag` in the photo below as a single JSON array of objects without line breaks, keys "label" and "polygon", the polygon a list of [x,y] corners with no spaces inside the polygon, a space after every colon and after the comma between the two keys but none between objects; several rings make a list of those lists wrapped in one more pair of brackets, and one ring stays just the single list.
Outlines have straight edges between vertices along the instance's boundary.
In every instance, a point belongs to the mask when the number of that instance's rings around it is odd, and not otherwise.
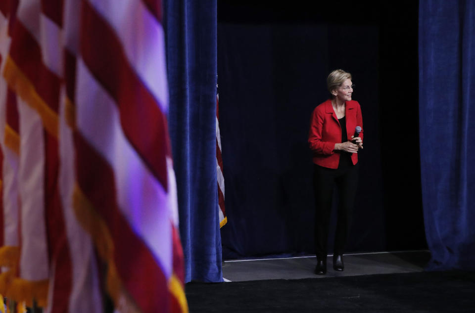
[{"label": "diagonal gold fringe across the upper part of the far-left flag", "polygon": [[7,56],[3,77],[8,82],[11,89],[16,91],[31,108],[40,114],[43,120],[43,127],[49,134],[58,137],[58,115],[51,110],[47,103],[35,90],[35,86],[30,82],[28,77],[16,66],[10,56]]}]

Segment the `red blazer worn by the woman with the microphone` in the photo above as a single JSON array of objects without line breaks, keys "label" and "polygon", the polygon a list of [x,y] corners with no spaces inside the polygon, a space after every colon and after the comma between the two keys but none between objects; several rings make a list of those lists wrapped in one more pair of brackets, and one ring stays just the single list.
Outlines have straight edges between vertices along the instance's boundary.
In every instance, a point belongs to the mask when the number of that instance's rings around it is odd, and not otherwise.
[{"label": "red blazer worn by the woman with the microphone", "polygon": [[[357,101],[346,101],[345,121],[348,140],[355,134],[356,126],[361,127],[360,137],[363,139],[363,118]],[[341,127],[331,100],[313,110],[308,143],[313,151],[313,163],[330,169],[338,168],[340,153],[334,151],[334,148],[335,143],[341,143]],[[358,163],[358,153],[352,153],[351,160],[353,165]]]}]

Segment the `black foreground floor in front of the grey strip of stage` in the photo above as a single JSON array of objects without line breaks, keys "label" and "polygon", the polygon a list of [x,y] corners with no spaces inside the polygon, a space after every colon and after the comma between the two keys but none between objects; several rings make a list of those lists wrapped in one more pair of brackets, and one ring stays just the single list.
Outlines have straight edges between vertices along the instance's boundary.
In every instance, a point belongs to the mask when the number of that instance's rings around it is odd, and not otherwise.
[{"label": "black foreground floor in front of the grey strip of stage", "polygon": [[190,312],[471,313],[475,272],[188,283]]}]

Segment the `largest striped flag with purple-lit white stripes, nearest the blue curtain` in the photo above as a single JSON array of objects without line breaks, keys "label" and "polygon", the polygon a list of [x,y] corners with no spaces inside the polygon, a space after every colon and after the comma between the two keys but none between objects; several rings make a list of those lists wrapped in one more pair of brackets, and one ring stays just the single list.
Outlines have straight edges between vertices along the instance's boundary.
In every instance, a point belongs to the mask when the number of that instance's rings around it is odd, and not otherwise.
[{"label": "largest striped flag with purple-lit white stripes, nearest the blue curtain", "polygon": [[161,3],[88,0],[79,11],[76,216],[119,311],[186,312]]}]

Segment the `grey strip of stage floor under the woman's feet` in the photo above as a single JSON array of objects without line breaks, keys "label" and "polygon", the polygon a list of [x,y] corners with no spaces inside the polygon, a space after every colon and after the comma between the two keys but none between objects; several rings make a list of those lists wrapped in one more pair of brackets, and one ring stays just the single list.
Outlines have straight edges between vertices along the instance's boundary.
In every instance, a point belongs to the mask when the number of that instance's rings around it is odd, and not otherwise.
[{"label": "grey strip of stage floor under the woman's feet", "polygon": [[315,256],[230,260],[223,264],[225,281],[248,281],[263,279],[300,279],[371,274],[409,273],[423,271],[430,253],[421,251],[396,251],[356,253],[344,255],[345,270],[333,270],[332,255],[327,258],[327,274],[315,275]]}]

